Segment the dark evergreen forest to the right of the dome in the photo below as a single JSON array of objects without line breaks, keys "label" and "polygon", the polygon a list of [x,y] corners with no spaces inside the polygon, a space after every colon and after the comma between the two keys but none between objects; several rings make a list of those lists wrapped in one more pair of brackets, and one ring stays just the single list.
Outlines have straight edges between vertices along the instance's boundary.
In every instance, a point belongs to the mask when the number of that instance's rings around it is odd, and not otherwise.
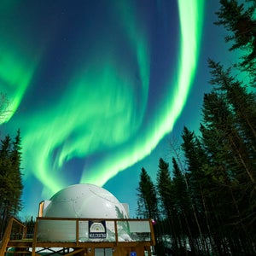
[{"label": "dark evergreen forest to the right of the dome", "polygon": [[156,221],[158,255],[256,255],[256,1],[220,4],[216,24],[241,58],[228,68],[208,60],[198,131],[183,128],[155,183],[140,174],[137,216]]}]

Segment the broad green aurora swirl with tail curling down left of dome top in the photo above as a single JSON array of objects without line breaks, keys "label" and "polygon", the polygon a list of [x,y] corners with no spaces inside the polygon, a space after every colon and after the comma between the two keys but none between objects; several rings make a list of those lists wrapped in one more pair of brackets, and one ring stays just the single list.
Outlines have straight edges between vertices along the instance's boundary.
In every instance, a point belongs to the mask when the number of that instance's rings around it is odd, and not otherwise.
[{"label": "broad green aurora swirl with tail curling down left of dome top", "polygon": [[[40,152],[33,156],[38,164],[32,173],[49,193],[67,185],[67,180],[60,177],[68,160],[118,147],[137,131],[132,120],[135,109],[131,81],[116,73],[117,67],[111,62],[96,68],[91,60],[83,70],[84,76],[70,81],[73,90],[64,92],[55,106],[30,117],[34,121],[24,128],[26,160],[33,152]],[[30,163],[26,161],[25,165]]]}]

